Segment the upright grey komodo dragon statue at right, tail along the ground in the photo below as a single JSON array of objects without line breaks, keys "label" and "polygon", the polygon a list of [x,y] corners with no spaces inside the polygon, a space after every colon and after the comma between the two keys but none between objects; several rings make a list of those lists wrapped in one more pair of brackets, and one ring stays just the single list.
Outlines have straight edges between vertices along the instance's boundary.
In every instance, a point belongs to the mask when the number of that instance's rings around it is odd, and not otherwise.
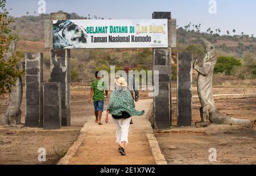
[{"label": "upright grey komodo dragon statue at right, tail along the ground", "polygon": [[210,123],[226,125],[251,124],[255,121],[234,119],[221,114],[214,103],[212,81],[213,69],[217,62],[217,53],[214,46],[205,38],[201,38],[205,49],[205,57],[196,59],[193,68],[199,72],[197,79],[197,92],[201,108],[201,121],[196,122],[196,127],[207,127]]}]

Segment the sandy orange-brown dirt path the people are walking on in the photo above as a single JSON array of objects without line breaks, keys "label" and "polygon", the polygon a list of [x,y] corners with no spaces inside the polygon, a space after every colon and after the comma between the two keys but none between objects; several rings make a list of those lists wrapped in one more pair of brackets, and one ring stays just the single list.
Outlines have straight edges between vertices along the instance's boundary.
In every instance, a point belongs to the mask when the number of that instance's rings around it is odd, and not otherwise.
[{"label": "sandy orange-brown dirt path the people are walking on", "polygon": [[[140,100],[136,103],[138,110],[150,108],[152,99]],[[105,113],[104,113],[105,114]],[[151,133],[151,125],[146,119],[146,113],[141,117],[133,117],[134,124],[130,126],[129,145],[126,156],[120,156],[115,143],[115,127],[112,118],[108,124],[98,125],[94,117],[85,124],[85,140],[71,158],[70,164],[98,165],[150,165],[154,164],[146,133]]]}]

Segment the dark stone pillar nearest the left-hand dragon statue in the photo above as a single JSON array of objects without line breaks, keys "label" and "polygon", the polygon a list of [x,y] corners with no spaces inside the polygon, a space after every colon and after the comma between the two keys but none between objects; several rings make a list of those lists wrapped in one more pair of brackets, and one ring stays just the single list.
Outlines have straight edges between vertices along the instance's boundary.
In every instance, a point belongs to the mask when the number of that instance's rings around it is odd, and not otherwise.
[{"label": "dark stone pillar nearest the left-hand dragon statue", "polygon": [[43,53],[25,53],[25,125],[43,127]]}]

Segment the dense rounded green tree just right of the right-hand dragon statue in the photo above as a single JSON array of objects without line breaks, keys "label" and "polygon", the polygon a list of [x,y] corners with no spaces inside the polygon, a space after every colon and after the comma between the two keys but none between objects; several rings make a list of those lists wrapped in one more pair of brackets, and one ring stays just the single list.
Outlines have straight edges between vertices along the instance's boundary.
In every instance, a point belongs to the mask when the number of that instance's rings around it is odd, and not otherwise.
[{"label": "dense rounded green tree just right of the right-hand dragon statue", "polygon": [[224,73],[230,75],[238,66],[241,66],[240,59],[233,56],[219,56],[214,68],[214,73]]}]

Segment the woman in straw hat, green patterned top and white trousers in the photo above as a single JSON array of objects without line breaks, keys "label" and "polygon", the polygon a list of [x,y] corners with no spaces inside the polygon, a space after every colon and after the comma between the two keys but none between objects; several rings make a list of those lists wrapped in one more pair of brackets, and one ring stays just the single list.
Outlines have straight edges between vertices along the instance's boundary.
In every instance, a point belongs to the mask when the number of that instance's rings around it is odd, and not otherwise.
[{"label": "woman in straw hat, green patterned top and white trousers", "polygon": [[135,110],[133,97],[126,89],[127,82],[125,82],[125,78],[119,77],[115,79],[115,87],[117,89],[112,91],[110,95],[105,121],[108,123],[108,115],[112,114],[116,127],[116,141],[119,145],[118,152],[124,156],[126,155],[125,146],[128,144],[131,116],[141,116],[144,111]]}]

